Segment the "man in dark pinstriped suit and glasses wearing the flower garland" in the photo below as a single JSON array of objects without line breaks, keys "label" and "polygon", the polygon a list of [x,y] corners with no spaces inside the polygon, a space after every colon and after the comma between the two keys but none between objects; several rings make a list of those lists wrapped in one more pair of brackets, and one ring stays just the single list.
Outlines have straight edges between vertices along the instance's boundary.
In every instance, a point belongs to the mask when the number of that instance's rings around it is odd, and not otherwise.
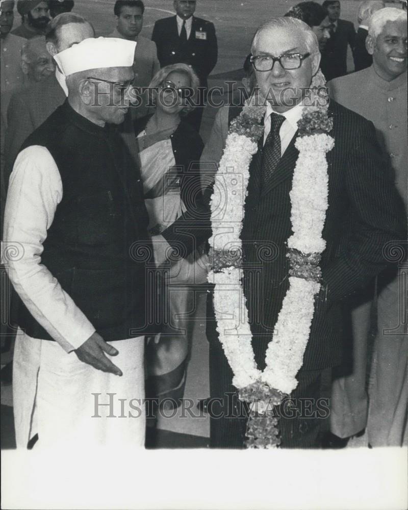
[{"label": "man in dark pinstriped suit and glasses wearing the flower garland", "polygon": [[[293,18],[275,18],[257,32],[252,55],[262,58],[287,54],[302,55],[299,68],[284,69],[276,60],[271,61],[269,71],[259,71],[256,67],[261,93],[268,97],[268,91],[272,91],[275,101],[267,105],[264,139],[261,138],[249,168],[241,233],[245,294],[249,317],[252,317],[252,347],[261,370],[265,368],[265,352],[289,285],[286,258],[286,242],[292,234],[289,193],[299,154],[295,140],[302,90],[310,87],[320,62],[317,39],[306,24]],[[294,94],[290,105],[280,99],[285,89]],[[271,169],[268,168],[269,160],[264,157],[267,152],[264,143],[272,129],[268,117],[273,113],[284,117],[277,129],[281,157],[273,171],[268,172]],[[330,101],[329,115],[334,122],[330,135],[335,139],[335,147],[327,154],[329,205],[323,229],[326,249],[320,264],[323,288],[315,303],[303,366],[297,374],[299,384],[291,394],[298,410],[302,399],[312,399],[311,411],[315,414],[308,418],[300,410],[300,416],[281,418],[284,448],[320,446],[322,420],[316,411],[321,396],[321,374],[324,369],[341,365],[344,358],[342,301],[387,267],[388,261],[382,251],[386,244],[406,237],[403,204],[372,123],[333,100]],[[274,249],[272,260],[263,256],[263,248],[268,246]],[[251,279],[260,282],[259,285],[250,286]],[[209,314],[213,316],[211,302],[210,299]],[[242,448],[246,420],[237,417],[239,409],[237,399],[234,399],[236,389],[232,386],[232,371],[218,341],[214,320],[208,321],[207,333],[210,393],[212,398],[218,399],[209,407],[211,446]]]}]

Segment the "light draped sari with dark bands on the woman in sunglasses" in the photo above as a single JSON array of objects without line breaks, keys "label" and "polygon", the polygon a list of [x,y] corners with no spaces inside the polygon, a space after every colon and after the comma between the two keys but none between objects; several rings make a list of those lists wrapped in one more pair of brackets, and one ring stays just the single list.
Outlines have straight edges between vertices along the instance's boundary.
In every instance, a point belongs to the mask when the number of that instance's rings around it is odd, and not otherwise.
[{"label": "light draped sari with dark bands on the woman in sunglasses", "polygon": [[[173,132],[166,130],[152,136],[142,132],[137,138],[151,235],[161,234],[186,211],[181,198],[180,169],[171,142]],[[187,259],[174,262],[171,274],[169,277],[163,272],[162,333],[149,339],[146,348],[146,396],[166,399],[167,405],[175,407],[184,395],[196,312],[194,289],[188,284],[205,282],[206,268],[203,262],[197,261],[197,254],[192,253]]]}]

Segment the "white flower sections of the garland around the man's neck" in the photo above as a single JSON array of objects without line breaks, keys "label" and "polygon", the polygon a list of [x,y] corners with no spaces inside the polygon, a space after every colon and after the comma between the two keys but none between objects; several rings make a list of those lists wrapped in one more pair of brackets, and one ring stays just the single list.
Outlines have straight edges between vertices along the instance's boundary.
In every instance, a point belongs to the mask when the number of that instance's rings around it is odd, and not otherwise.
[{"label": "white flower sections of the garland around the man's neck", "polygon": [[[316,83],[324,85],[321,75],[315,80]],[[308,115],[313,115],[313,112],[327,115],[327,103],[323,107],[305,107],[303,121],[307,121]],[[241,115],[248,112],[250,116],[251,108],[252,105],[246,105]],[[329,131],[327,117],[321,126],[321,130]],[[231,130],[228,134],[211,201],[213,236],[210,246],[218,252],[242,248],[240,234],[249,165],[258,149],[250,133],[239,134],[236,131]],[[299,252],[307,261],[310,256],[320,254],[325,248],[322,230],[328,193],[326,152],[334,146],[333,138],[321,131],[314,134],[315,131],[314,126],[311,134],[296,140],[299,157],[290,193],[293,235],[288,239],[288,248]],[[225,206],[223,215],[220,215],[221,205]],[[234,265],[212,270],[208,275],[208,281],[215,284],[217,331],[234,373],[233,385],[242,390],[253,384],[265,383],[270,389],[290,394],[297,386],[296,374],[303,363],[314,315],[314,300],[320,291],[320,283],[316,278],[297,275],[289,277],[289,290],[278,315],[273,340],[268,345],[266,368],[261,372],[251,346],[251,330],[241,280],[242,269]]]}]

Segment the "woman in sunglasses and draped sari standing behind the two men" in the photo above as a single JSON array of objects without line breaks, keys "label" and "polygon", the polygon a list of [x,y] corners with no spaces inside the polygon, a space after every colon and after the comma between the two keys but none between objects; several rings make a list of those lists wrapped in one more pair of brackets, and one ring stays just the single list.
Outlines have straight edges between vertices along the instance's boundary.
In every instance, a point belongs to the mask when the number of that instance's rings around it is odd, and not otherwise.
[{"label": "woman in sunglasses and draped sari standing behind the two men", "polygon": [[[200,193],[198,168],[203,143],[184,118],[193,109],[198,85],[197,75],[188,65],[164,67],[149,86],[154,113],[134,123],[151,235],[161,234],[174,223],[191,208],[191,198]],[[165,282],[163,331],[149,339],[146,348],[146,396],[166,399],[167,407],[178,406],[184,395],[196,308],[191,284],[206,282],[198,251],[173,263],[171,274],[177,276],[167,277]]]}]

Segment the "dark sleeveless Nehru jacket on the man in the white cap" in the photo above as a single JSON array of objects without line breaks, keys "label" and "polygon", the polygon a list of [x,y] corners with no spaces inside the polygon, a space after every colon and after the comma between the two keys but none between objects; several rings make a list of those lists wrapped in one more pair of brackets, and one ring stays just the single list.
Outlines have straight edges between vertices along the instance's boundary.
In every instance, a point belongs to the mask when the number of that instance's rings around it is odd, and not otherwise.
[{"label": "dark sleeveless Nehru jacket on the man in the white cap", "polygon": [[[41,263],[104,340],[151,331],[146,325],[148,215],[139,171],[116,126],[98,126],[65,101],[22,149],[31,145],[48,149],[63,188]],[[29,336],[53,340],[22,302],[17,322]]]}]

